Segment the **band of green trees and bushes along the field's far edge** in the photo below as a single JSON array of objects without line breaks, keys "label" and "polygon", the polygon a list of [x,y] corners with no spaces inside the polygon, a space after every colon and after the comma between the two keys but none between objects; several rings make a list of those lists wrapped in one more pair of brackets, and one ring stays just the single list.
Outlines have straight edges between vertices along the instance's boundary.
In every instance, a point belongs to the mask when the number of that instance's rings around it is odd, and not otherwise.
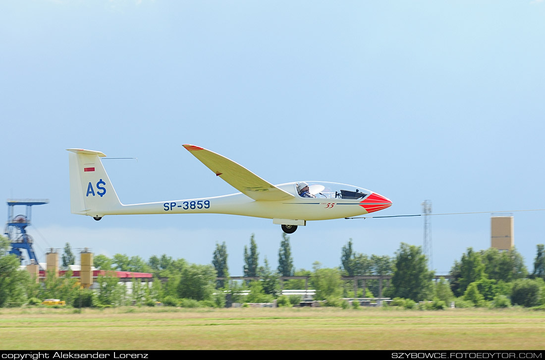
[{"label": "band of green trees and bushes along the field's far edge", "polygon": [[[314,299],[325,300],[330,306],[346,306],[343,298],[369,298],[379,293],[379,280],[343,280],[343,276],[391,275],[385,297],[393,298],[391,306],[405,308],[443,309],[456,307],[538,307],[545,309],[545,250],[537,245],[534,269],[530,274],[522,255],[515,248],[499,251],[494,248],[474,251],[468,248],[455,261],[451,279],[433,281],[422,248],[401,243],[394,256],[358,253],[352,239],[341,249],[341,263],[336,268],[323,268],[314,262],[312,269],[296,269],[289,237],[282,233],[278,249],[278,267],[271,269],[267,257],[259,265],[255,236],[244,247],[244,277],[259,280],[233,281],[229,277],[226,243],[216,243],[211,263],[198,265],[163,254],[148,261],[140,256],[115,254],[96,255],[94,266],[105,271],[96,289],[81,289],[78,279],[66,271],[63,277],[47,274],[37,283],[26,271],[19,271],[15,255],[5,255],[9,249],[6,238],[0,237],[0,307],[40,304],[45,298],[59,298],[74,307],[111,307],[128,304],[156,304],[182,307],[223,307],[226,302],[272,302],[280,305],[298,304],[299,296],[282,296],[282,289],[305,289],[305,280],[290,279],[280,283],[280,277],[305,276],[308,286],[316,291]],[[74,263],[75,256],[66,243],[62,265]],[[133,280],[131,291],[120,284],[113,271],[152,273],[148,283]],[[162,279],[163,281],[161,281]],[[165,280],[166,279],[166,280]],[[353,281],[357,293],[354,293]],[[242,295],[246,290],[247,295]]]}]

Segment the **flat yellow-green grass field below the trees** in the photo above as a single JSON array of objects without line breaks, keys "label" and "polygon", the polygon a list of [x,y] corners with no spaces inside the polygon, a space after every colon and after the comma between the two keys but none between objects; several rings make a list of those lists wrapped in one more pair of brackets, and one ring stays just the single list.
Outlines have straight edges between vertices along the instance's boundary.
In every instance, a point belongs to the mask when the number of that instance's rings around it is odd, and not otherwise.
[{"label": "flat yellow-green grass field below the trees", "polygon": [[0,350],[543,350],[525,309],[0,309]]}]

